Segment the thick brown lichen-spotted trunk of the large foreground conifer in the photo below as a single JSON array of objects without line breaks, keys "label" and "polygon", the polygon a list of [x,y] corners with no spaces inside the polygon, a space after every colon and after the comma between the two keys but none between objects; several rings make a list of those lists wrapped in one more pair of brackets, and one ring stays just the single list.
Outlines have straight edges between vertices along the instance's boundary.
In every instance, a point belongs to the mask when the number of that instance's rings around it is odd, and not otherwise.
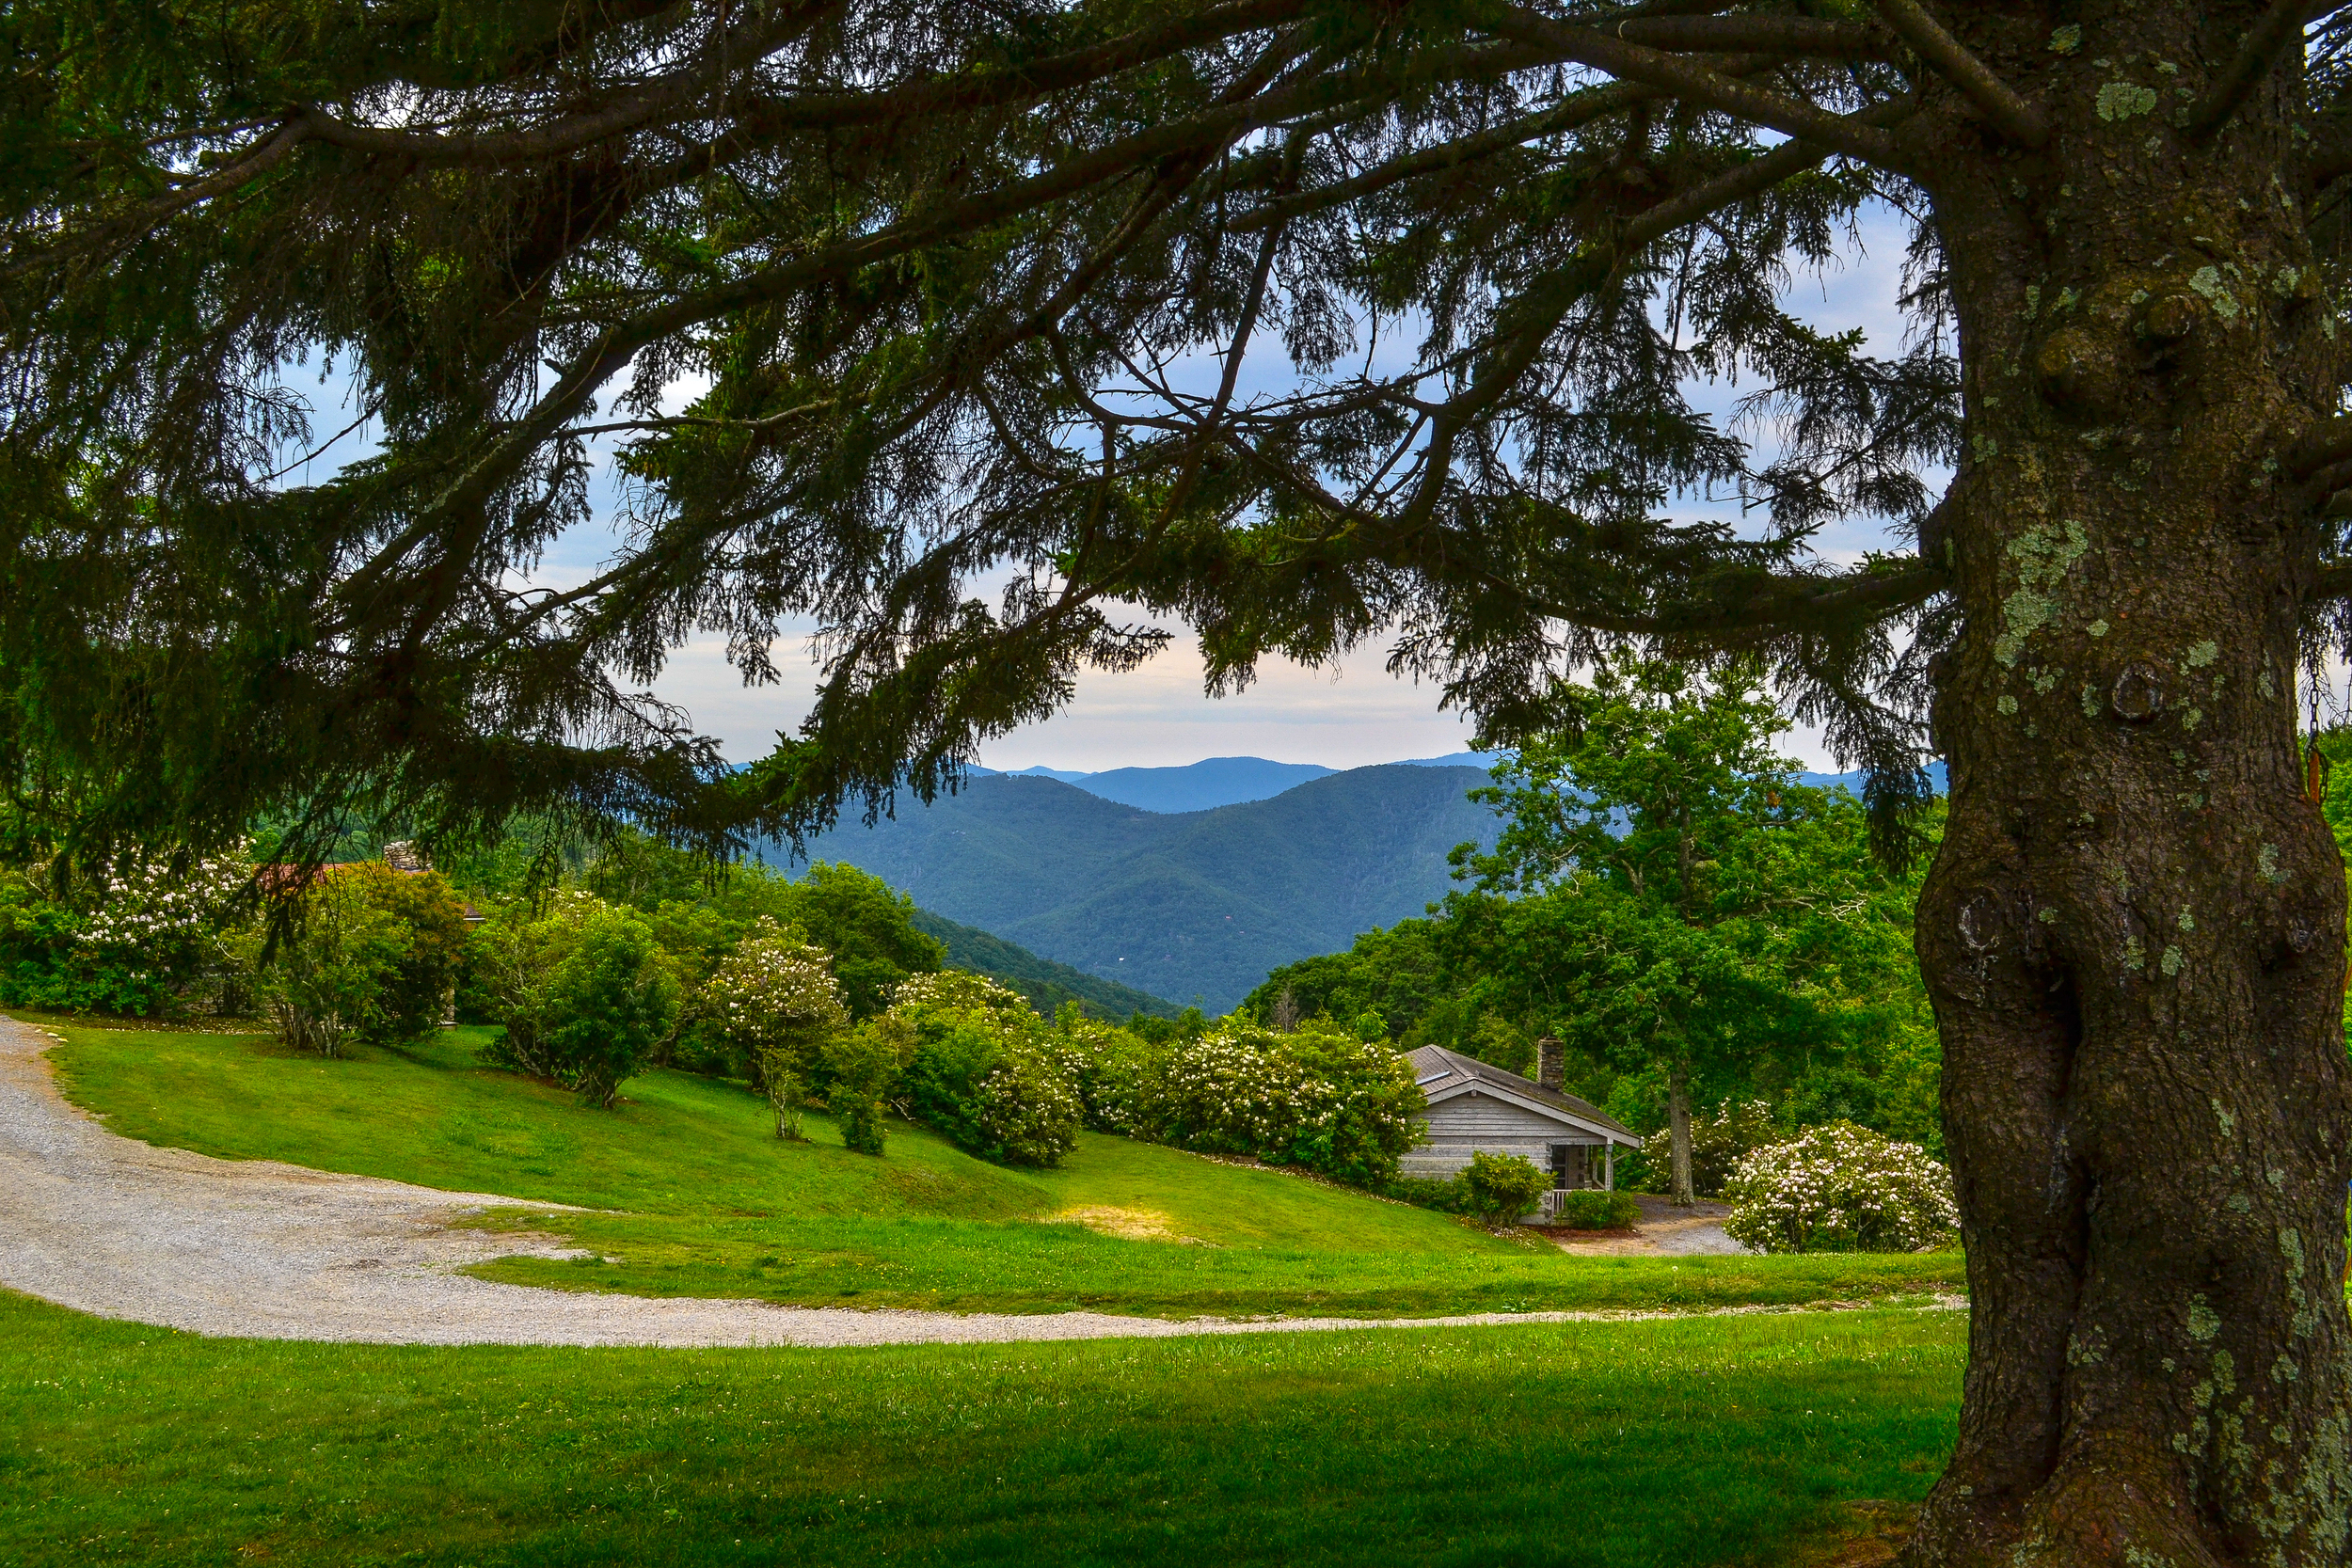
[{"label": "thick brown lichen-spotted trunk of the large foreground conifer", "polygon": [[2272,461],[2345,327],[2272,176],[2286,87],[2211,153],[2171,125],[2199,68],[2159,61],[2227,59],[2197,24],[2093,26],[2058,150],[1936,193],[1971,451],[1922,541],[1966,635],[1917,947],[1971,1354],[1922,1566],[2345,1561],[2345,875],[2293,731],[2317,541]]}]

